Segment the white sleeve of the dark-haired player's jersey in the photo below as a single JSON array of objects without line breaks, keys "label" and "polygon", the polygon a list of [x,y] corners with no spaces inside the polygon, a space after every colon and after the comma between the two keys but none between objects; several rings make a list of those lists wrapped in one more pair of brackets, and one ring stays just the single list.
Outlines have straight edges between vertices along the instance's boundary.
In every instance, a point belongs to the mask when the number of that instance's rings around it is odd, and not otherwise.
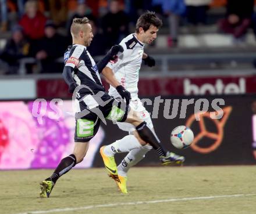
[{"label": "white sleeve of the dark-haired player's jersey", "polygon": [[115,72],[115,68],[118,68],[119,66],[122,66],[123,64],[126,64],[130,61],[130,50],[127,49],[126,44],[123,42],[120,42],[119,45],[123,47],[123,52],[118,53],[118,60],[115,61],[109,61],[109,63],[106,65],[106,67],[111,68]]}]

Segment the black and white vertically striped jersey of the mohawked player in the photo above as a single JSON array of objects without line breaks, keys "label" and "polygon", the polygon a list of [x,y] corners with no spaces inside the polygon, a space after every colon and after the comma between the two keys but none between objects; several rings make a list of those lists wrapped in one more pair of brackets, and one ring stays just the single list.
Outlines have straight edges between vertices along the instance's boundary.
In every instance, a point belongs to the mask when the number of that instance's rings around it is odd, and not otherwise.
[{"label": "black and white vertically striped jersey of the mohawked player", "polygon": [[[93,57],[87,51],[86,46],[70,45],[64,55],[65,66],[73,68],[72,77],[77,85],[86,85],[87,88],[80,89],[82,95],[105,92],[99,77],[98,67]],[[88,89],[90,88],[90,89]]]}]

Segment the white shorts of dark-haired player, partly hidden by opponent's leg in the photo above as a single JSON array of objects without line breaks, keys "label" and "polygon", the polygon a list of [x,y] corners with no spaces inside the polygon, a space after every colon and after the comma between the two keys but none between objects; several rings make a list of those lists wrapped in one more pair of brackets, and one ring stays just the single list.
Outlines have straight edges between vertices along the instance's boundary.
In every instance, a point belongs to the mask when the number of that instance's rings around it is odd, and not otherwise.
[{"label": "white shorts of dark-haired player, partly hidden by opponent's leg", "polygon": [[[153,129],[153,124],[151,121],[150,113],[144,108],[143,104],[141,103],[140,99],[131,100],[130,105],[131,110],[135,111],[140,119],[147,122],[149,128]],[[116,122],[119,129],[122,129],[126,132],[133,132],[136,130],[135,126],[129,124],[128,122]]]}]

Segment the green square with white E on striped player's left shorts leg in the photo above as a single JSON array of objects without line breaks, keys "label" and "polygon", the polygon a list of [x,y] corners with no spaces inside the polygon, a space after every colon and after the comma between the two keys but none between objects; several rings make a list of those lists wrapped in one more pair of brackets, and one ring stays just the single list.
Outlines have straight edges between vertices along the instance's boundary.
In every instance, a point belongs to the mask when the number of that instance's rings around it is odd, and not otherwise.
[{"label": "green square with white E on striped player's left shorts leg", "polygon": [[94,122],[88,119],[77,119],[77,137],[88,137],[93,135]]}]

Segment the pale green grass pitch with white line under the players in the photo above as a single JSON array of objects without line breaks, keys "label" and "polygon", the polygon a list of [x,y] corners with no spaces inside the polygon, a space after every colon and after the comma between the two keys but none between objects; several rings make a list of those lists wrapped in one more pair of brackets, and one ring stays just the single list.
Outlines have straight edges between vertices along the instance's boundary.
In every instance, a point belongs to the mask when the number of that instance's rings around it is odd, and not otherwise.
[{"label": "pale green grass pitch with white line under the players", "polygon": [[76,169],[50,198],[39,198],[39,183],[51,172],[0,171],[0,213],[256,213],[256,166],[134,167],[126,195],[104,168]]}]

